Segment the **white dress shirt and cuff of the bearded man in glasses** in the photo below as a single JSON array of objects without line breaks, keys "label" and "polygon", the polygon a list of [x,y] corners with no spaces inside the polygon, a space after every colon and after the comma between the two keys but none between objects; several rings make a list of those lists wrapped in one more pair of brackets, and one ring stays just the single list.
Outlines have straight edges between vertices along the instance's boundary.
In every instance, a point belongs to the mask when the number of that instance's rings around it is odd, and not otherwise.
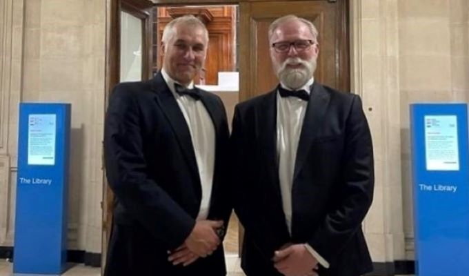
[{"label": "white dress shirt and cuff of the bearded man in glasses", "polygon": [[[310,79],[303,87],[298,90],[306,90],[310,93],[310,86],[314,83]],[[280,83],[287,89],[290,88]],[[297,150],[301,127],[306,113],[308,101],[298,97],[281,97],[277,92],[277,159],[279,160],[279,180],[282,198],[283,212],[288,226],[288,231],[292,232],[292,185],[293,173],[295,172],[295,161],[297,159]],[[305,244],[306,249],[315,257],[319,264],[328,268],[329,263],[319,255],[309,244]]]}]

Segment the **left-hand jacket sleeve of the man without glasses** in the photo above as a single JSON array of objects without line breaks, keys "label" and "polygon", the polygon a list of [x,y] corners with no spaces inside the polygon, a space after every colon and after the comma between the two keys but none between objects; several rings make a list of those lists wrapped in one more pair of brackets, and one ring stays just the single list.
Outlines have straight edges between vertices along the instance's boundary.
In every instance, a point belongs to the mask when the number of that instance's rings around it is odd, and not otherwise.
[{"label": "left-hand jacket sleeve of the man without glasses", "polygon": [[110,188],[132,217],[169,250],[183,244],[195,221],[148,177],[141,137],[137,92],[120,84],[110,97],[104,130],[106,175]]}]

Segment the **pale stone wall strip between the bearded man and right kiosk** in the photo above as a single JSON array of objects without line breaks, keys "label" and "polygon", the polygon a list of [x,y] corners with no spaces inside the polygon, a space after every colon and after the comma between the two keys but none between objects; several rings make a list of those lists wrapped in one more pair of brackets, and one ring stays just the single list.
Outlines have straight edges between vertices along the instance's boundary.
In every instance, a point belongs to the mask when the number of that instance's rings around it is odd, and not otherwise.
[{"label": "pale stone wall strip between the bearded man and right kiosk", "polygon": [[397,11],[397,1],[379,0],[374,5],[350,1],[351,85],[363,99],[375,151],[375,200],[363,221],[363,232],[377,264],[406,258],[399,229],[403,210],[401,137],[396,124],[400,114]]}]

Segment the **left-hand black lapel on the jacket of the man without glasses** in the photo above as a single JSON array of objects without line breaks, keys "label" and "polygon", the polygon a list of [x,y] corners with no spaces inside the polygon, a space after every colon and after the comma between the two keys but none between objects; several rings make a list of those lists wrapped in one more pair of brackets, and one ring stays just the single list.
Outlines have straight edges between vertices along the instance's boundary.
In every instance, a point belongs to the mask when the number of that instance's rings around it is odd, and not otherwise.
[{"label": "left-hand black lapel on the jacket of the man without glasses", "polygon": [[[152,80],[152,89],[155,92],[155,100],[157,101],[159,108],[161,108],[166,119],[168,119],[172,130],[174,130],[174,135],[177,138],[178,144],[181,147],[194,179],[197,179],[197,183],[200,183],[194,146],[192,145],[192,138],[190,137],[190,131],[186,123],[186,119],[184,119],[184,115],[182,114],[174,95],[172,95],[171,90],[168,88],[166,81],[164,81],[161,72],[158,72]],[[197,186],[197,190],[201,194],[201,187],[200,185]]]}]

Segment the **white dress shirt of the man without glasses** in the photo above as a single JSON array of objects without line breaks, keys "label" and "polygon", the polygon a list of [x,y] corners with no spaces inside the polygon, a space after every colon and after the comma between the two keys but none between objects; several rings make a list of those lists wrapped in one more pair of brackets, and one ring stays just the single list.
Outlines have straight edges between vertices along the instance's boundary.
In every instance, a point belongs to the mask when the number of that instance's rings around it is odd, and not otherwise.
[{"label": "white dress shirt of the man without glasses", "polygon": [[[202,200],[197,219],[206,219],[210,208],[214,172],[215,128],[213,121],[201,100],[196,101],[189,95],[181,96],[177,94],[174,88],[176,81],[171,79],[165,70],[161,70],[161,75],[163,75],[163,79],[166,81],[166,84],[168,84],[188,124],[202,188]],[[181,84],[181,86],[183,85]],[[186,86],[186,88],[189,89],[193,87],[193,82]]]}]

